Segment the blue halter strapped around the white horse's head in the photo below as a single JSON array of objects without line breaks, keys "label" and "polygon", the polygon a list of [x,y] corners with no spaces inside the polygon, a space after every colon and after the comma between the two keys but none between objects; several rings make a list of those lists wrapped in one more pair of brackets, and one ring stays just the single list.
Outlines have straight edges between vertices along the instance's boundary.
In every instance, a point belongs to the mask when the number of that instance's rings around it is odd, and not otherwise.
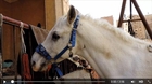
[{"label": "blue halter strapped around the white horse's head", "polygon": [[[71,39],[69,39],[69,43],[54,57],[52,58],[51,55],[49,55],[49,53],[46,51],[46,48],[39,44],[37,47],[36,47],[36,52],[38,54],[40,54],[41,56],[43,56],[47,60],[51,60],[51,59],[54,59],[56,60],[58,58],[60,58],[67,50],[72,50],[72,47],[75,46],[75,43],[76,43],[76,29],[78,27],[78,23],[79,23],[79,15],[77,15],[74,24],[73,24],[73,30],[72,30],[72,34],[71,34]],[[60,71],[60,69],[56,67],[55,65],[55,70],[58,71],[59,75],[62,76],[62,72]]]}]

